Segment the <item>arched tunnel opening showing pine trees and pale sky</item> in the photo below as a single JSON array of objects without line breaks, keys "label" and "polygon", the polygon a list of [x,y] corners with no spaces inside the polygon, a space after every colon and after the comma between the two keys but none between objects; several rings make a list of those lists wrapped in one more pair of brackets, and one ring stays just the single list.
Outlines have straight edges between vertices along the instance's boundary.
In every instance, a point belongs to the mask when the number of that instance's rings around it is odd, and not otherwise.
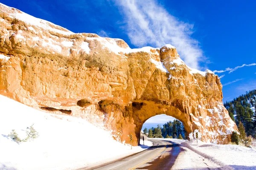
[{"label": "arched tunnel opening showing pine trees and pale sky", "polygon": [[140,144],[142,139],[186,139],[186,130],[183,123],[172,116],[160,114],[147,119],[141,128]]}]

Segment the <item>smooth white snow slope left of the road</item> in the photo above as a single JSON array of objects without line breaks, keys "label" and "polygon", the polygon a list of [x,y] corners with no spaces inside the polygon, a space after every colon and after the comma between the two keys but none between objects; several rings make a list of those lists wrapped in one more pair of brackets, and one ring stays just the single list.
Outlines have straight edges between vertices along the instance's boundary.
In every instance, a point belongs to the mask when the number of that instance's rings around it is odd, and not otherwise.
[{"label": "smooth white snow slope left of the road", "polygon": [[[148,147],[131,150],[84,119],[41,112],[2,95],[0,108],[0,170],[93,167]],[[39,133],[34,141],[18,144],[8,136],[14,129],[23,139],[26,127],[32,124]],[[151,146],[152,142],[145,144]]]}]

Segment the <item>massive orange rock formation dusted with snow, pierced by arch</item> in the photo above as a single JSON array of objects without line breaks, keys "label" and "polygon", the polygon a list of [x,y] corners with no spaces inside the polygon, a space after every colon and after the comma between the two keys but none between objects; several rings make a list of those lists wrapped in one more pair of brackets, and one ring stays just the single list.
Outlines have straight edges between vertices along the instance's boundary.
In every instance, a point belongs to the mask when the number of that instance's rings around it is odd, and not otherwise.
[{"label": "massive orange rock formation dusted with snow, pierced by arch", "polygon": [[175,47],[131,49],[120,39],[74,34],[0,4],[0,94],[81,117],[133,145],[143,123],[166,114],[194,137],[225,144],[237,130],[211,71],[189,68]]}]

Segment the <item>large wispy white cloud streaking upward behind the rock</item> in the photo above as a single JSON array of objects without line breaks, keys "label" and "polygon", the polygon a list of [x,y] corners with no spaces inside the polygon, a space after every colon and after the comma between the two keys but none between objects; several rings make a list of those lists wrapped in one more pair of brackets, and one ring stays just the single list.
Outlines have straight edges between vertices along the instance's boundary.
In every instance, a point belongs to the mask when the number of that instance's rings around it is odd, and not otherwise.
[{"label": "large wispy white cloud streaking upward behind the rock", "polygon": [[136,46],[161,47],[172,44],[180,57],[192,68],[199,68],[203,58],[199,42],[191,37],[193,25],[184,23],[155,0],[115,0],[125,14],[128,37]]}]

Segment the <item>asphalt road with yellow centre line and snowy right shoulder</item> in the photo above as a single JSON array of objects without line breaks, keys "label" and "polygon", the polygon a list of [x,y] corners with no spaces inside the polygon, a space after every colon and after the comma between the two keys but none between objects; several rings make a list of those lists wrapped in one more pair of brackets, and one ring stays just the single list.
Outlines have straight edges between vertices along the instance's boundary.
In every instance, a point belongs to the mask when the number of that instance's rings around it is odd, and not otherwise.
[{"label": "asphalt road with yellow centre line and snowy right shoulder", "polygon": [[143,152],[94,170],[216,170],[218,165],[178,142],[150,139],[154,145]]}]

